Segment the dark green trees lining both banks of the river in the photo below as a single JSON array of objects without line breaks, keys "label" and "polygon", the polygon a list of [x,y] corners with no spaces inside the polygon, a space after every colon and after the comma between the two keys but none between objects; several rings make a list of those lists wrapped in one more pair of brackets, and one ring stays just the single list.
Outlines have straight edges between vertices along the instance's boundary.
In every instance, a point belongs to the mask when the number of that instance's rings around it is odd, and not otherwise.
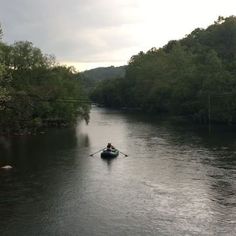
[{"label": "dark green trees lining both banks of the river", "polygon": [[236,17],[131,57],[125,76],[89,79],[31,42],[8,45],[0,25],[0,135],[43,133],[89,121],[105,107],[236,124]]}]

